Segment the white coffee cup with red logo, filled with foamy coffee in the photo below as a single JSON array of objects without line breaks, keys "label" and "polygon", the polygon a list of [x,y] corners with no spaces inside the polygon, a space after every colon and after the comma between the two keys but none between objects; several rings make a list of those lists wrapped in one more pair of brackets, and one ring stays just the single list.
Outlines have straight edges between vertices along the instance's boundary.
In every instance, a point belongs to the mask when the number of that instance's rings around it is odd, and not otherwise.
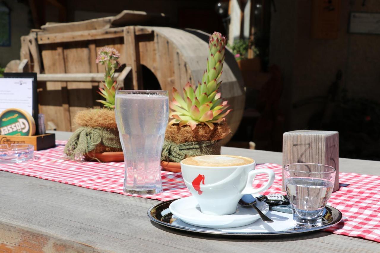
[{"label": "white coffee cup with red logo, filled with foamy coffee", "polygon": [[[237,202],[244,194],[268,189],[275,176],[271,169],[255,170],[255,161],[251,158],[229,155],[186,158],[181,161],[181,171],[201,212],[211,215],[236,212]],[[261,173],[268,174],[268,182],[263,187],[253,188],[253,179]]]}]

